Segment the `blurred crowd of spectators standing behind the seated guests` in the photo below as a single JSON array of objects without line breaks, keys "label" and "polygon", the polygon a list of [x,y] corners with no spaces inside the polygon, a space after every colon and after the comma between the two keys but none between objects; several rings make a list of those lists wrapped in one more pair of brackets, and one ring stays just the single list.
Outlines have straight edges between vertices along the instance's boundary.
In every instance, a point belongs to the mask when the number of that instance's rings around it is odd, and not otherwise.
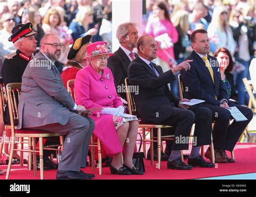
[{"label": "blurred crowd of spectators standing behind the seated guests", "polygon": [[[256,49],[254,0],[146,0],[144,3],[143,31],[139,34],[171,41],[163,42],[157,54],[157,62],[164,71],[182,62],[192,51],[191,33],[205,29],[212,55],[220,47],[230,51],[234,64],[228,72],[234,76],[239,104],[247,104],[242,78],[250,79],[249,66]],[[0,0],[0,18],[0,57],[15,52],[14,45],[8,41],[11,29],[16,24],[31,22],[38,33],[38,46],[45,33],[53,32],[61,38],[64,47],[56,63],[60,73],[68,62],[73,40],[92,35],[91,42],[112,43],[111,0]],[[178,96],[177,83],[171,84],[171,88]]]}]

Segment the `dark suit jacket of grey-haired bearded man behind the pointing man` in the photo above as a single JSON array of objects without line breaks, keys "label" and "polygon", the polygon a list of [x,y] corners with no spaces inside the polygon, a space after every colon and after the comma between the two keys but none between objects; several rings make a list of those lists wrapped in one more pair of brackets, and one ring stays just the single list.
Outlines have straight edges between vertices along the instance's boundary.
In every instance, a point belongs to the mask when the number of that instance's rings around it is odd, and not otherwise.
[{"label": "dark suit jacket of grey-haired bearded man behind the pointing man", "polygon": [[[134,53],[134,56],[137,57],[137,53]],[[127,57],[121,47],[119,47],[119,49],[114,52],[114,55],[107,60],[107,67],[109,67],[113,73],[116,87],[122,86],[122,84],[123,86],[125,85],[124,79],[127,78],[127,71],[130,63],[131,61],[129,57]],[[127,100],[125,92],[118,92],[118,94],[120,97]]]}]

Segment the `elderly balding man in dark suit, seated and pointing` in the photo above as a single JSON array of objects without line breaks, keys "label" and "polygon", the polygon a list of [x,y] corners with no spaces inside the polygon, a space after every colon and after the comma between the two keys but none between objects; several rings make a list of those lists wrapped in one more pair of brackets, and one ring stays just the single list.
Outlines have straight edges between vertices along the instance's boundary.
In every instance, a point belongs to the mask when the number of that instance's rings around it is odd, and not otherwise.
[{"label": "elderly balding man in dark suit, seated and pointing", "polygon": [[[131,62],[128,69],[129,85],[138,86],[134,100],[143,123],[170,125],[174,127],[172,152],[167,168],[191,169],[192,166],[214,167],[200,155],[200,146],[211,143],[211,111],[205,107],[187,110],[188,106],[169,90],[167,84],[175,80],[174,73],[190,69],[191,60],[180,63],[170,71],[163,73],[160,66],[151,61],[157,57],[157,44],[148,35],[137,41],[138,57]],[[188,150],[188,140],[193,123],[196,123],[194,136],[197,140],[188,158],[188,165],[180,160],[180,150]],[[195,141],[196,141],[195,140]]]}]

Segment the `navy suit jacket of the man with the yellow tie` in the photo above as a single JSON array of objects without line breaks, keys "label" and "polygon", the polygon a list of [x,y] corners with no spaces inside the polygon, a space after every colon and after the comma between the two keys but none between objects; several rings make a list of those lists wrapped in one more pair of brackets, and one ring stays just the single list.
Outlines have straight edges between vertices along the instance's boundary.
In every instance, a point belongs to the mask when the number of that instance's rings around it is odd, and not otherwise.
[{"label": "navy suit jacket of the man with the yellow tie", "polygon": [[[193,62],[190,63],[190,70],[182,70],[180,72],[181,80],[185,88],[184,96],[187,99],[202,99],[205,100],[205,103],[219,106],[220,100],[228,100],[228,96],[220,77],[217,59],[209,55],[207,57],[210,63],[212,63],[214,83],[204,60],[201,59],[196,52],[192,51],[191,55],[186,58],[186,60],[193,60]],[[215,96],[218,100],[215,99]]]}]

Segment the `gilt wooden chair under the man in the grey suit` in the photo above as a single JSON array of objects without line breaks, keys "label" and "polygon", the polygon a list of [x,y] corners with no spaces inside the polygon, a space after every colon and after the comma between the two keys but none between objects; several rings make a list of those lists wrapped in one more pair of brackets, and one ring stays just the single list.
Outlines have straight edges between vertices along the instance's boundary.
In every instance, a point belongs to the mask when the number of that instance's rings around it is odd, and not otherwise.
[{"label": "gilt wooden chair under the man in the grey suit", "polygon": [[[58,150],[61,151],[63,147],[63,135],[58,133],[51,133],[48,131],[42,130],[30,130],[30,129],[21,129],[16,130],[14,125],[15,120],[18,120],[18,105],[17,100],[19,99],[19,94],[21,92],[21,83],[10,83],[6,85],[6,94],[8,98],[8,107],[10,113],[11,120],[11,153],[10,153],[10,161],[12,161],[14,151],[28,152],[29,153],[29,170],[31,171],[31,162],[32,162],[32,153],[33,153],[33,171],[34,175],[37,176],[37,167],[36,167],[36,153],[39,153],[40,160],[40,178],[44,178],[44,162],[43,162],[43,150]],[[52,145],[43,147],[43,138],[46,137],[55,137],[59,136],[60,145]],[[19,149],[14,149],[15,138],[28,138],[28,149],[22,147]],[[39,138],[39,151],[36,147],[36,138]],[[53,148],[55,146],[60,146],[60,148]],[[9,179],[10,171],[11,171],[12,162],[8,164],[8,170],[6,173],[6,179]]]}]

